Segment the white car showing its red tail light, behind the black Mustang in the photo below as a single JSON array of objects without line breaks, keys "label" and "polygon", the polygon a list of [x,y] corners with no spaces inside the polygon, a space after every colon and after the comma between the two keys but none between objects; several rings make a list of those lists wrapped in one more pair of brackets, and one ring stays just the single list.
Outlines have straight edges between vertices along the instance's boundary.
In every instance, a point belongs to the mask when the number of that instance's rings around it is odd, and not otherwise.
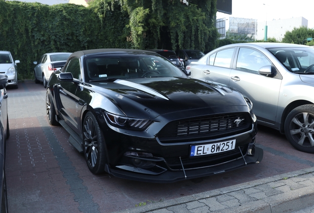
[{"label": "white car showing its red tail light, behind the black Mustang", "polygon": [[71,54],[72,53],[69,52],[43,54],[40,57],[39,62],[34,62],[36,65],[34,68],[35,83],[42,82],[44,88],[46,88],[51,73],[61,69]]}]

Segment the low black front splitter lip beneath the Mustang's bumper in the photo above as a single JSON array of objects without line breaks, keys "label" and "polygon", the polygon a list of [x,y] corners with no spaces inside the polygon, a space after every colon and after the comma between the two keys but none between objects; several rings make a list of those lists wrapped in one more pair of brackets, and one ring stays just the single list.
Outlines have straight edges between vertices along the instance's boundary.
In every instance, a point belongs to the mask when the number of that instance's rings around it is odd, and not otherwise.
[{"label": "low black front splitter lip beneath the Mustang's bumper", "polygon": [[[180,171],[171,171],[166,170],[165,172],[159,175],[149,175],[136,172],[138,168],[133,167],[129,168],[132,171],[126,171],[115,168],[106,167],[106,172],[118,177],[118,178],[126,178],[131,180],[138,180],[138,181],[145,181],[145,182],[158,182],[158,183],[170,183],[179,180],[185,179],[193,179],[193,178],[200,178],[205,176],[216,175],[228,171],[232,171],[241,167],[245,167],[250,164],[256,164],[262,161],[263,159],[263,149],[255,147],[252,145],[254,155],[245,155],[243,158],[239,158],[234,161],[230,161],[228,163],[223,163],[217,166],[206,167],[206,168],[198,168],[193,170],[184,170],[181,169]],[[184,166],[183,166],[184,168]]]}]

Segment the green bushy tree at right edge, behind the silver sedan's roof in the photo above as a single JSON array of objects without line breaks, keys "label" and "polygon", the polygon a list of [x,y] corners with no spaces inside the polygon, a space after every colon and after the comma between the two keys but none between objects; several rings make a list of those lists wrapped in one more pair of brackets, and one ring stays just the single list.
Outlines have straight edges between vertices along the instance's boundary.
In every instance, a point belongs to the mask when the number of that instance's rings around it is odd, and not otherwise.
[{"label": "green bushy tree at right edge, behind the silver sedan's roof", "polygon": [[283,43],[296,43],[306,44],[307,38],[314,37],[314,30],[307,27],[293,28],[293,30],[287,31],[282,38]]}]

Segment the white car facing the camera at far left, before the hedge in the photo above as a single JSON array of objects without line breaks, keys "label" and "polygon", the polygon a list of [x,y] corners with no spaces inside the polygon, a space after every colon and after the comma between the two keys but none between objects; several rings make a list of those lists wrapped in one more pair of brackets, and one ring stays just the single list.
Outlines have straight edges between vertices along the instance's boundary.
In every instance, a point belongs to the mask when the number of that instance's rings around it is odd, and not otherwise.
[{"label": "white car facing the camera at far left, before the hedge", "polygon": [[10,51],[0,51],[0,73],[6,74],[8,77],[8,83],[13,88],[18,88],[17,81],[17,65],[19,60],[13,60]]}]

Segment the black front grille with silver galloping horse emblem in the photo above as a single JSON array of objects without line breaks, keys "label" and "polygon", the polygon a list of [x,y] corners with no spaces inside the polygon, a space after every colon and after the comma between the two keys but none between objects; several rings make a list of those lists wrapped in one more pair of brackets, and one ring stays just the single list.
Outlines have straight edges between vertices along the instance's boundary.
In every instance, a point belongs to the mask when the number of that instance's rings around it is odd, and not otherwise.
[{"label": "black front grille with silver galloping horse emblem", "polygon": [[[171,143],[179,140],[191,142],[191,139],[216,139],[248,131],[252,119],[249,113],[219,114],[194,117],[168,123],[158,133],[160,142]],[[178,141],[178,142],[179,142]]]}]

